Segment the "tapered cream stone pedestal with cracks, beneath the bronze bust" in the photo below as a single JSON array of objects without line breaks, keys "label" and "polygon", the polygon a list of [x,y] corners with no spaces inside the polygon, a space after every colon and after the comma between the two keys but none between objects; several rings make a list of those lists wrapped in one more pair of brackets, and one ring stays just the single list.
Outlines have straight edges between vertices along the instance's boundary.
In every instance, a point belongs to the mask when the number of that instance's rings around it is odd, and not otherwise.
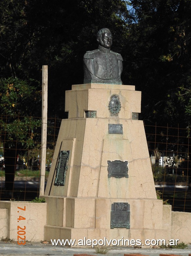
[{"label": "tapered cream stone pedestal with cracks, beneath the bronze bust", "polygon": [[[118,115],[108,108],[114,94],[121,104]],[[130,85],[73,85],[65,111],[45,191],[45,239],[168,240],[171,213],[157,200],[143,121],[137,119],[141,92]],[[120,124],[122,132],[109,133],[109,124]],[[70,156],[65,185],[57,186],[62,150]],[[128,161],[128,178],[108,177],[108,161],[116,160]],[[111,229],[114,202],[130,205],[130,229]]]}]

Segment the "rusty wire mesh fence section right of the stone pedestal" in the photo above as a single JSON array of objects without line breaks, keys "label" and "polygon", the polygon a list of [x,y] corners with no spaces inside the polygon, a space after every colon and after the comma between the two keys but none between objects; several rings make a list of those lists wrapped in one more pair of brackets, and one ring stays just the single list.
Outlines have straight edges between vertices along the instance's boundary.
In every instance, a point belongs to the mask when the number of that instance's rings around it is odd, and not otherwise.
[{"label": "rusty wire mesh fence section right of the stone pedestal", "polygon": [[173,211],[191,212],[190,128],[145,125],[156,190]]}]

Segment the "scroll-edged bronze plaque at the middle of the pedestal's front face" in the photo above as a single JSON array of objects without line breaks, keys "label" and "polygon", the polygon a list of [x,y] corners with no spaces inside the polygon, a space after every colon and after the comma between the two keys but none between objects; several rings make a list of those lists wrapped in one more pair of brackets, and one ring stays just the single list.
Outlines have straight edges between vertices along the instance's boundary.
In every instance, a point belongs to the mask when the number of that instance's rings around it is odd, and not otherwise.
[{"label": "scroll-edged bronze plaque at the middle of the pedestal's front face", "polygon": [[115,161],[107,161],[108,163],[108,178],[110,177],[115,177],[115,178],[129,178],[128,175],[128,161],[120,161],[120,160],[115,160]]}]

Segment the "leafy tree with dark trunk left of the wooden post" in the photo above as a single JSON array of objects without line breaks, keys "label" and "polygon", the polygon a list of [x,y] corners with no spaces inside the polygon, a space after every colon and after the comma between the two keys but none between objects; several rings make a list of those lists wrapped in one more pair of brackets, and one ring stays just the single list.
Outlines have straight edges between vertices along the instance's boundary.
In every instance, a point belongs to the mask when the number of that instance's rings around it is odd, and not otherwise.
[{"label": "leafy tree with dark trunk left of the wooden post", "polygon": [[[5,189],[12,197],[17,155],[34,146],[41,120],[30,116],[40,102],[35,86],[18,78],[0,79],[0,140],[4,147]],[[22,152],[23,154],[23,152]]]}]

